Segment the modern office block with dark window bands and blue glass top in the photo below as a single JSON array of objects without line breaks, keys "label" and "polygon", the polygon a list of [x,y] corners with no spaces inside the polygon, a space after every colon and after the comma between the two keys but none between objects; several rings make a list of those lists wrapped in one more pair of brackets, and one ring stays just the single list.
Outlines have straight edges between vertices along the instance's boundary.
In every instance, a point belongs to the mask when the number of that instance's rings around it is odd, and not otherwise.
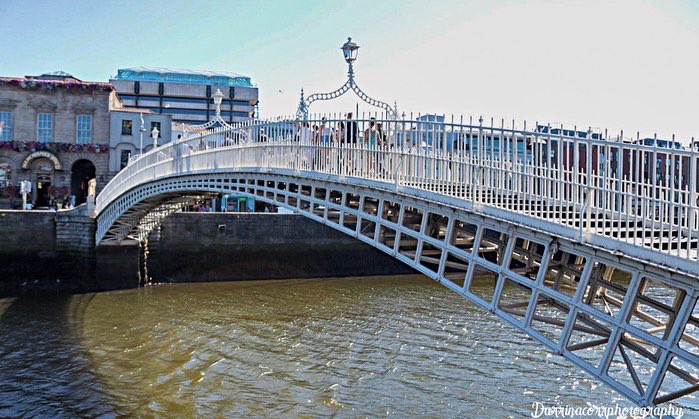
[{"label": "modern office block with dark window bands and blue glass top", "polygon": [[236,73],[133,67],[110,80],[124,106],[171,115],[173,122],[199,125],[213,119],[216,90],[223,93],[221,117],[227,122],[252,118],[258,90],[250,77]]}]

